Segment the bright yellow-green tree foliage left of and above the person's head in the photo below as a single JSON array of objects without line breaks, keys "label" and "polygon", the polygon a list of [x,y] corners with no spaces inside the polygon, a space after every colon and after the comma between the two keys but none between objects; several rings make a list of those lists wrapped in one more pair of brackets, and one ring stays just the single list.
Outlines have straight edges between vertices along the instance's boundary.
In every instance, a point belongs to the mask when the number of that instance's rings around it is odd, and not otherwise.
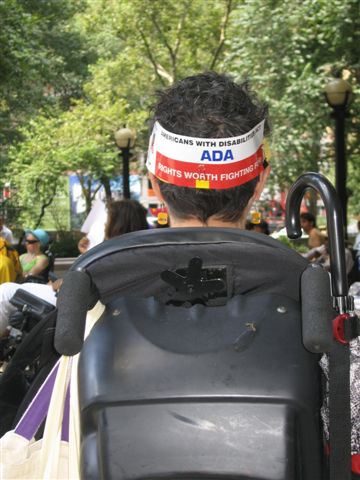
[{"label": "bright yellow-green tree foliage left of and above the person's head", "polygon": [[[146,118],[157,88],[181,76],[216,66],[221,60],[234,0],[170,1],[92,0],[77,16],[81,36],[92,38],[99,60],[89,70],[84,97],[71,108],[49,118],[40,116],[24,140],[11,151],[11,173],[22,172],[28,182],[18,185],[21,219],[32,215],[26,199],[34,192],[38,166],[47,164],[46,176],[75,171],[91,206],[92,181],[107,182],[119,172],[114,132],[129,125],[138,132],[138,148],[146,149]],[[42,132],[49,130],[45,139]],[[41,151],[39,151],[41,150]],[[36,154],[35,154],[36,152]],[[49,152],[55,152],[51,156]],[[31,178],[31,180],[30,180]],[[26,188],[26,192],[23,190]],[[42,204],[54,197],[53,183],[44,181]]]}]

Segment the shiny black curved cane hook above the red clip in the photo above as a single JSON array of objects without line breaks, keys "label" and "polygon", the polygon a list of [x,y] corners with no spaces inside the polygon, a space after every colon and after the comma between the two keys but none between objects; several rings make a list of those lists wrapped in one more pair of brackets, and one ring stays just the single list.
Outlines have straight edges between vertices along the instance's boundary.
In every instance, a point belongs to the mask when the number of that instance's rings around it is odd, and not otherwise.
[{"label": "shiny black curved cane hook above the red clip", "polygon": [[329,180],[320,173],[304,173],[289,190],[286,199],[286,230],[288,237],[301,237],[300,205],[308,188],[316,190],[325,205],[329,239],[332,295],[339,313],[349,308],[348,285],[345,267],[345,244],[342,210],[336,190]]}]

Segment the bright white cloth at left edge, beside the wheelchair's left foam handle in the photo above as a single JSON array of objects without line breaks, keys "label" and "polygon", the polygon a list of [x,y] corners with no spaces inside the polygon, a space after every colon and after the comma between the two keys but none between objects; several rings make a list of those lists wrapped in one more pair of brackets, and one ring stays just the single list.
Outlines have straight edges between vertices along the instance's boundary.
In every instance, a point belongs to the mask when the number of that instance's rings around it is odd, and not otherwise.
[{"label": "bright white cloth at left edge, beside the wheelchair's left foam handle", "polygon": [[10,299],[19,288],[56,306],[56,296],[51,285],[43,285],[41,283],[2,283],[0,285],[0,335],[4,333],[9,324],[9,316],[16,311],[16,308],[10,303]]}]

